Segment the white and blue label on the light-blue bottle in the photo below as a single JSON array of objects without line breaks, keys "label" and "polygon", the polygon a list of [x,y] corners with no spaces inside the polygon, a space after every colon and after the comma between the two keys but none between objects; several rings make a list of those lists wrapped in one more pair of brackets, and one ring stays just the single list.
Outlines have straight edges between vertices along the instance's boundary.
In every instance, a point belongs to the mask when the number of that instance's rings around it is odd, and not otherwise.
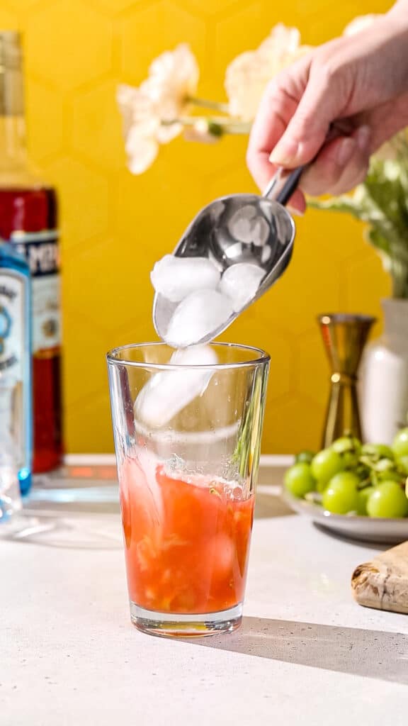
[{"label": "white and blue label on the light-blue bottle", "polygon": [[27,465],[28,396],[24,389],[25,310],[28,294],[27,278],[11,269],[0,268],[0,436],[10,436],[18,467]]}]

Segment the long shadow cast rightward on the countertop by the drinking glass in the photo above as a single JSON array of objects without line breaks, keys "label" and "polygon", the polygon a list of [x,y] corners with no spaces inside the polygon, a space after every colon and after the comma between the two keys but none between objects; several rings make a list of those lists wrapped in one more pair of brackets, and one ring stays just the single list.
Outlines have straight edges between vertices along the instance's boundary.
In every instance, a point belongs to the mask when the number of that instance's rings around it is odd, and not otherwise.
[{"label": "long shadow cast rightward on the countertop by the drinking glass", "polygon": [[408,685],[408,635],[402,633],[245,617],[231,635],[194,643]]}]

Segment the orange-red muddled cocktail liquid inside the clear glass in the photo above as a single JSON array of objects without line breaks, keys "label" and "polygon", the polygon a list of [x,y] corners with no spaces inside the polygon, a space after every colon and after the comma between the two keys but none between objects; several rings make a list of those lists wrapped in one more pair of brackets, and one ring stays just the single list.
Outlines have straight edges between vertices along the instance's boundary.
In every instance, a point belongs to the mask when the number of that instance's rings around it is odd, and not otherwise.
[{"label": "orange-red muddled cocktail liquid inside the clear glass", "polygon": [[139,457],[123,462],[120,485],[133,603],[195,614],[242,602],[253,494],[222,479],[169,474]]}]

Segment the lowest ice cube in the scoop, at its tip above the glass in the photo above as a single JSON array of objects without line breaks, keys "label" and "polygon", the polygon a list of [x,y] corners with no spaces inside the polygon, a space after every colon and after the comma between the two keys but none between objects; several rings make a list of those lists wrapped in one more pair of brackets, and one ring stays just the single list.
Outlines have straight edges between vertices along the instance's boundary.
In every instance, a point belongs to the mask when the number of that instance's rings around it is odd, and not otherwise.
[{"label": "lowest ice cube in the scoop, at its tip above the glass", "polygon": [[164,340],[174,348],[193,346],[227,324],[232,311],[227,295],[217,290],[196,290],[176,307]]}]

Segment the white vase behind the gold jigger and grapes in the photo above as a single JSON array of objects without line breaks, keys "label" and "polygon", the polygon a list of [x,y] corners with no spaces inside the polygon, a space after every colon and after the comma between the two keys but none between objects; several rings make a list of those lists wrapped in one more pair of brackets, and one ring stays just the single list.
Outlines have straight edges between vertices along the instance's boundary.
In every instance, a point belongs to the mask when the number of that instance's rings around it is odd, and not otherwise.
[{"label": "white vase behind the gold jigger and grapes", "polygon": [[391,444],[408,414],[408,300],[382,301],[384,333],[369,343],[360,369],[365,441]]}]

